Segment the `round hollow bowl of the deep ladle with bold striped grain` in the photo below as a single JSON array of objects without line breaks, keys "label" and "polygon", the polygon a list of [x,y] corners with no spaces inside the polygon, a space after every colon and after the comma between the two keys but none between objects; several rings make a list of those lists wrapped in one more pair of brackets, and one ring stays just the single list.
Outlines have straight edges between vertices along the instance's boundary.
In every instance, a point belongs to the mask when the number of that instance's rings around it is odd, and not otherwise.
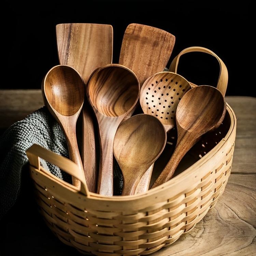
[{"label": "round hollow bowl of the deep ladle with bold striped grain", "polygon": [[102,115],[122,116],[137,101],[138,79],[124,66],[108,65],[98,69],[91,77],[88,93],[94,108]]}]

